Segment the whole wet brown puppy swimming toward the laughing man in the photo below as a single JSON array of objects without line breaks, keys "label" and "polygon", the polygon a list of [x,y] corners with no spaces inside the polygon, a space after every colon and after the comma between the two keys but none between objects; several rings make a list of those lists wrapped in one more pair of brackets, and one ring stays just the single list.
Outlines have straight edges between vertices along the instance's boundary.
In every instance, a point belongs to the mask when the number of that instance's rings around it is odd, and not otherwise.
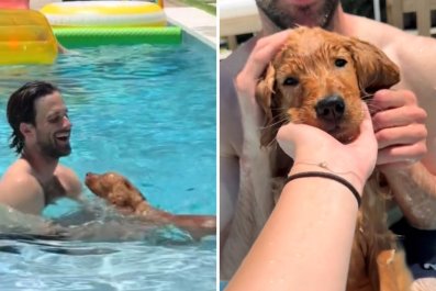
[{"label": "whole wet brown puppy swimming toward the laughing man", "polygon": [[125,215],[141,216],[156,225],[174,225],[198,239],[216,234],[216,219],[212,215],[176,215],[153,208],[125,177],[116,172],[88,172],[85,183],[96,195],[104,199]]}]

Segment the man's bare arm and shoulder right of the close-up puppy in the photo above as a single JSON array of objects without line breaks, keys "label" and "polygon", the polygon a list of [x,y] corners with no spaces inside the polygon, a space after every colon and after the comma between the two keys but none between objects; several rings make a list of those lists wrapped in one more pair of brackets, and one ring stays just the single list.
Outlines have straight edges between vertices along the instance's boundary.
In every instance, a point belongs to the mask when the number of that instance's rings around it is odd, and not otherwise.
[{"label": "man's bare arm and shoulder right of the close-up puppy", "polygon": [[[435,230],[436,41],[409,34],[396,40],[402,42],[395,44],[402,72],[398,88],[413,93],[390,91],[384,100],[383,96],[374,96],[376,108],[388,109],[374,115],[380,144],[378,165],[383,165],[382,171],[409,223],[416,228]],[[398,97],[403,103],[389,105]],[[428,114],[423,114],[423,109]]]}]

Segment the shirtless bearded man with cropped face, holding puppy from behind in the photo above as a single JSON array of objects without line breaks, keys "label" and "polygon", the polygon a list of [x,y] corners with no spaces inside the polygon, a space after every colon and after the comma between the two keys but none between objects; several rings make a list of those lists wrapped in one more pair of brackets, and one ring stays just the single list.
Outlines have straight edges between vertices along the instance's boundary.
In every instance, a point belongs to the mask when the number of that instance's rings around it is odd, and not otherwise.
[{"label": "shirtless bearded man with cropped face, holding puppy from behind", "polygon": [[[249,92],[250,98],[254,98],[257,80],[290,33],[278,32],[298,24],[321,26],[370,42],[399,65],[401,82],[394,90],[377,92],[372,100],[372,108],[379,110],[372,116],[379,142],[378,166],[394,186],[393,197],[396,206],[390,214],[400,215],[391,215],[392,221],[399,221],[403,215],[405,228],[436,230],[436,99],[435,81],[432,77],[432,72],[436,70],[436,41],[347,14],[343,11],[339,0],[256,2],[262,32],[222,60],[220,69],[221,249],[225,245],[239,191],[244,141],[241,109],[234,85],[241,92]],[[418,102],[429,113],[427,119]],[[421,261],[436,266],[436,232],[432,233],[433,238],[428,238],[431,235],[426,236],[427,243],[422,246],[428,250],[423,255],[427,260]],[[416,247],[412,250],[421,251]],[[431,272],[428,269],[422,277],[436,275],[434,270]]]}]

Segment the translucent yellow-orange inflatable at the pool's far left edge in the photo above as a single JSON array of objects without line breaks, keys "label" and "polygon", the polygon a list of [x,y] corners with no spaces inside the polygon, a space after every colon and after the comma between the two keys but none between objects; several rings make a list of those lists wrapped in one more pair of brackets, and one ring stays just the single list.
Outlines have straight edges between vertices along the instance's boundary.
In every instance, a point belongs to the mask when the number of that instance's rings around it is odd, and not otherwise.
[{"label": "translucent yellow-orange inflatable at the pool's far left edge", "polygon": [[57,43],[37,11],[0,9],[0,65],[53,64]]}]

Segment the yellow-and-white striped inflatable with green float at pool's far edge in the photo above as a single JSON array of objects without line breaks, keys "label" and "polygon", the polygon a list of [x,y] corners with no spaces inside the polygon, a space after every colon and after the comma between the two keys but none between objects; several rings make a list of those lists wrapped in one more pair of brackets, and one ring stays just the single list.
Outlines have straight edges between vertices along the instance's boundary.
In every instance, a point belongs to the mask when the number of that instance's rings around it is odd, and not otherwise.
[{"label": "yellow-and-white striped inflatable with green float at pool's far edge", "polygon": [[180,44],[180,27],[167,26],[163,1],[75,1],[45,5],[45,14],[64,46]]}]

